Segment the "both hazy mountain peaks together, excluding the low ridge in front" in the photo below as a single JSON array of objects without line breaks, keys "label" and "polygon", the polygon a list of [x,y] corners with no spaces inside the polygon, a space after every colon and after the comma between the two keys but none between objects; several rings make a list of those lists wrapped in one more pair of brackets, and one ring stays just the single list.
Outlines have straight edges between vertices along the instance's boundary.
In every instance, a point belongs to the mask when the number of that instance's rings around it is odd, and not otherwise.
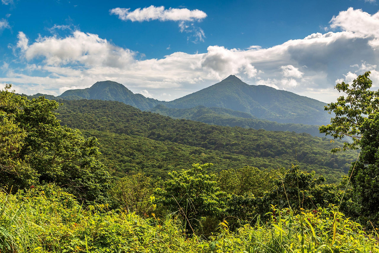
[{"label": "both hazy mountain peaks together, excluding the low ridge in front", "polygon": [[[330,122],[330,115],[323,110],[326,105],[324,102],[265,85],[249,85],[235,75],[229,75],[221,82],[169,102],[135,94],[125,85],[110,80],[96,82],[85,89],[67,90],[56,98],[119,101],[140,110],[152,110],[157,105],[178,109],[218,107],[277,123],[322,125]],[[240,117],[237,114],[232,116]]]}]

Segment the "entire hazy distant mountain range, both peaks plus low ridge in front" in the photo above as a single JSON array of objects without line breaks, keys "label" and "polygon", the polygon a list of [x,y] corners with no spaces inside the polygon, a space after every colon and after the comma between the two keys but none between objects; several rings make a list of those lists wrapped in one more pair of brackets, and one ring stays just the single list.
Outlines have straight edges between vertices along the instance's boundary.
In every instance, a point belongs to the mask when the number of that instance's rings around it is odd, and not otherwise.
[{"label": "entire hazy distant mountain range, both peaks plus low ridge in front", "polygon": [[[35,96],[40,95],[43,94]],[[112,81],[97,82],[90,88],[67,90],[57,97],[45,97],[119,101],[172,118],[221,126],[307,132],[316,136],[320,136],[317,126],[328,124],[331,117],[324,111],[324,102],[265,85],[248,85],[235,75],[169,102],[135,94],[124,85]]]}]

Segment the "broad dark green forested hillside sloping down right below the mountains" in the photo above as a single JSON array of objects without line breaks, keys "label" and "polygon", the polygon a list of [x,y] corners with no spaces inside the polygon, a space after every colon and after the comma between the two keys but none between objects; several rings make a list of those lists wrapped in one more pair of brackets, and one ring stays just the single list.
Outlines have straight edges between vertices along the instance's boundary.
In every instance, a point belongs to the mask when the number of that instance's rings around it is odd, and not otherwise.
[{"label": "broad dark green forested hillside sloping down right below the mountains", "polygon": [[163,171],[193,162],[213,162],[215,170],[298,163],[336,182],[357,156],[353,151],[331,154],[336,143],[309,134],[172,119],[115,101],[63,101],[57,112],[61,124],[99,138],[103,162],[118,173],[144,171],[164,177]]}]

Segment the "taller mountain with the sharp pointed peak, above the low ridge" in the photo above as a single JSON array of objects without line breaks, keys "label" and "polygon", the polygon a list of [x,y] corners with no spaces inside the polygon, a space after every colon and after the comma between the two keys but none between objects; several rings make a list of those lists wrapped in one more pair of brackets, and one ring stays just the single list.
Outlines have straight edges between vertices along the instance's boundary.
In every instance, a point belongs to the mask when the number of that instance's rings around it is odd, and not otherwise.
[{"label": "taller mountain with the sharp pointed peak, above the low ridge", "polygon": [[324,102],[265,85],[248,85],[235,75],[165,105],[169,108],[198,105],[229,108],[279,123],[322,125],[330,122]]}]

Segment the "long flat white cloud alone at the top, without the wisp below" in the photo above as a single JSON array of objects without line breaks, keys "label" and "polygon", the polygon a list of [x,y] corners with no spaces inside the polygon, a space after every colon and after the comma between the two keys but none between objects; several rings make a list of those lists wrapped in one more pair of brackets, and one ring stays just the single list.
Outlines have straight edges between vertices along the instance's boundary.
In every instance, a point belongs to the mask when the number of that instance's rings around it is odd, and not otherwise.
[{"label": "long flat white cloud alone at the top, without the wisp below", "polygon": [[149,6],[143,9],[138,8],[134,11],[130,11],[130,8],[114,8],[110,10],[110,14],[115,14],[119,16],[121,20],[131,20],[134,21],[150,21],[150,20],[160,20],[160,21],[201,21],[207,14],[204,11],[198,9],[189,10],[186,8],[177,9],[169,8],[165,9],[164,6]]}]

